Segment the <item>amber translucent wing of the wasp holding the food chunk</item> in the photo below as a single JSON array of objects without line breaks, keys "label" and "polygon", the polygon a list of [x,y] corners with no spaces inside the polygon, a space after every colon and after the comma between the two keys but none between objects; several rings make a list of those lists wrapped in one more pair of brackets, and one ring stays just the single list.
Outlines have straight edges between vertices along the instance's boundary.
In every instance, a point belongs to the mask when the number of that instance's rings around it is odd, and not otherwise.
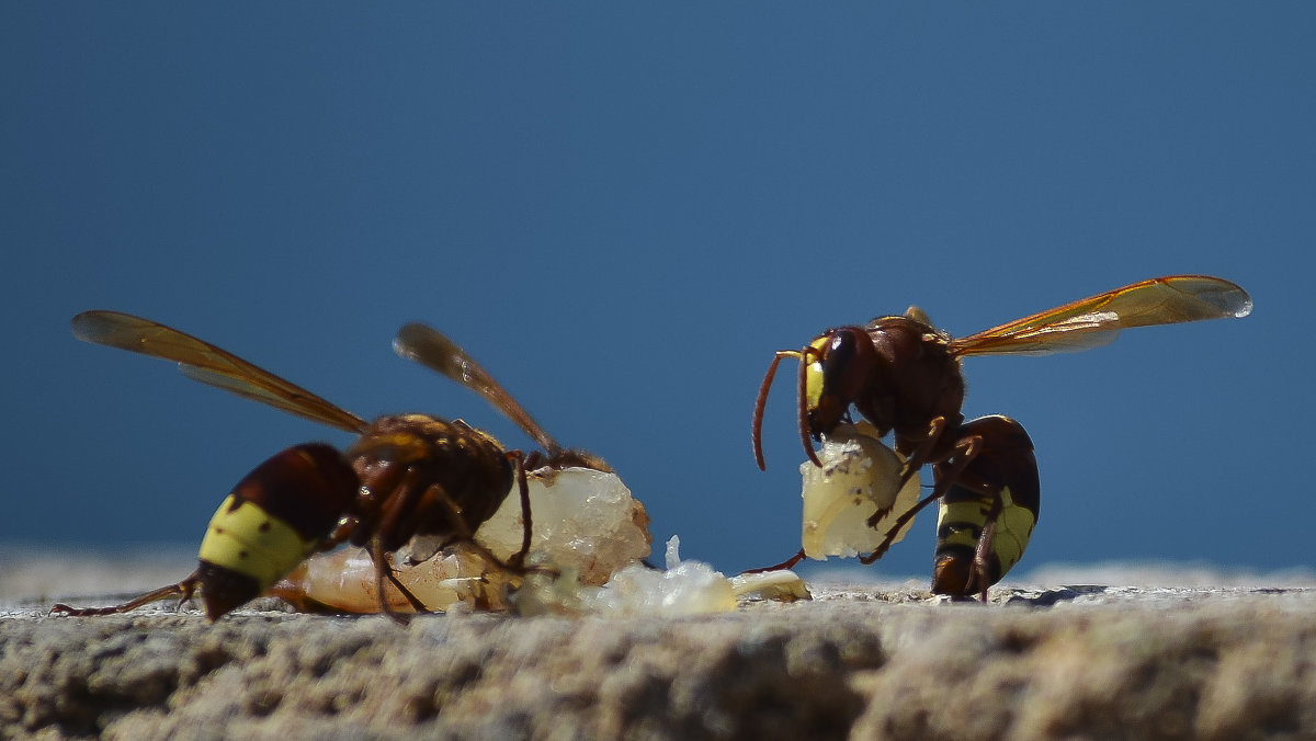
[{"label": "amber translucent wing of the wasp holding the food chunk", "polygon": [[1244,317],[1248,292],[1223,278],[1169,275],[1107,291],[950,341],[957,355],[1046,354],[1099,347],[1121,329]]}]

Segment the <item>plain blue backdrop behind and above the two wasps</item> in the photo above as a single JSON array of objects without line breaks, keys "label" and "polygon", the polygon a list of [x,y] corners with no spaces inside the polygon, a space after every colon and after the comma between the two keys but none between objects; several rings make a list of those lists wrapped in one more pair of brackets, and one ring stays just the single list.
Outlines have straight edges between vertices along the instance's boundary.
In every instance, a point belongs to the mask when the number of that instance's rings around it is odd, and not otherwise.
[{"label": "plain blue backdrop behind and above the two wasps", "polygon": [[[790,382],[766,474],[749,442],[774,350],[1205,272],[1253,316],[971,358],[965,411],[1037,444],[1021,569],[1309,567],[1313,38],[1308,3],[4,4],[0,542],[195,544],[347,442],[76,342],[87,308],[529,445],[392,354],[430,322],[738,571],[799,546]],[[933,520],[875,573],[926,574]]]}]

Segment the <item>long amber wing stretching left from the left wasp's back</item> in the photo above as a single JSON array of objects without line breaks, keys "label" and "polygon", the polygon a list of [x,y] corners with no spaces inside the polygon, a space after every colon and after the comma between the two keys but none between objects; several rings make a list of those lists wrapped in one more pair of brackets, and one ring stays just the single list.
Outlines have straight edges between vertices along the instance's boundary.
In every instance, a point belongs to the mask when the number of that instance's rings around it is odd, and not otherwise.
[{"label": "long amber wing stretching left from the left wasp's back", "polygon": [[365,420],[315,394],[283,380],[232,353],[149,319],[121,312],[91,311],[72,320],[74,337],[176,361],[183,375],[245,399],[347,432],[366,429]]}]

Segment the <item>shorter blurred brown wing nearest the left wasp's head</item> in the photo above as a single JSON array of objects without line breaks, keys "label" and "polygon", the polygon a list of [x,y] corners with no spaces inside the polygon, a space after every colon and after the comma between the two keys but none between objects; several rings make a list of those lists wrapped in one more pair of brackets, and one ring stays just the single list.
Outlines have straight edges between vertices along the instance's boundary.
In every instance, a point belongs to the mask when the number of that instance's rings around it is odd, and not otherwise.
[{"label": "shorter blurred brown wing nearest the left wasp's head", "polygon": [[458,347],[457,342],[440,334],[436,329],[418,322],[403,326],[393,340],[393,351],[408,361],[416,361],[436,370],[483,396],[490,404],[494,404],[494,408],[525,430],[525,434],[540,444],[550,457],[562,453],[562,446],[544,432],[544,428],[534,421],[530,413],[494,380],[488,371],[467,355],[466,350]]}]

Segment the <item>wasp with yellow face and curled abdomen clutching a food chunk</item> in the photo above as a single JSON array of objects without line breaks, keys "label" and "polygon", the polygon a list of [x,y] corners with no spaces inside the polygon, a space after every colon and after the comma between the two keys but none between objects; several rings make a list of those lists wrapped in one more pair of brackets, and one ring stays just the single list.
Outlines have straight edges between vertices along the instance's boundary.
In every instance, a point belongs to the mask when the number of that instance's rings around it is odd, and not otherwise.
[{"label": "wasp with yellow face and curled abdomen clutching a food chunk", "polygon": [[[962,359],[967,355],[1042,355],[1107,345],[1121,329],[1244,317],[1252,297],[1209,275],[1169,275],[1133,283],[969,337],[953,338],[911,307],[866,326],[838,326],[799,350],[779,350],[754,401],[754,459],[765,469],[761,429],[767,392],[783,358],[796,378],[800,441],[821,466],[812,441],[844,421],[851,407],[905,457],[901,486],[932,465],[932,492],[901,513],[878,548],[880,558],[913,516],[941,501],[933,591],[980,594],[1023,555],[1037,521],[1040,487],[1033,442],[1009,417],[965,421]],[[870,526],[875,520],[870,520]],[[797,563],[803,551],[782,566]]]}]

